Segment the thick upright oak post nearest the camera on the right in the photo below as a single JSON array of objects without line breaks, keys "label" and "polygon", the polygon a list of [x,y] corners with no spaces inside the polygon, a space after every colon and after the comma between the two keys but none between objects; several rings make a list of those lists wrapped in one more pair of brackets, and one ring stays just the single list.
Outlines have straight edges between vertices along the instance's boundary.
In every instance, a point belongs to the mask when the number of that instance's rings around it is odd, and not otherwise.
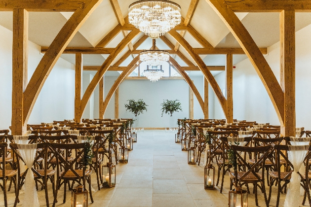
[{"label": "thick upright oak post nearest the camera on the right", "polygon": [[295,136],[295,10],[280,13],[280,85],[284,92],[282,136]]}]

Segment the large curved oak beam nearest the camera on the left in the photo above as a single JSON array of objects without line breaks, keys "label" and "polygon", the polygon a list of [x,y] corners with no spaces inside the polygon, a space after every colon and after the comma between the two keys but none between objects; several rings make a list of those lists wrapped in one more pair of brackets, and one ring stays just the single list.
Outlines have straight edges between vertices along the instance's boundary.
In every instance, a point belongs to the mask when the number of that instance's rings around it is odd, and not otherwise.
[{"label": "large curved oak beam nearest the camera on the left", "polygon": [[103,0],[87,0],[86,3],[83,3],[69,18],[43,55],[24,92],[24,123],[27,123],[43,84],[62,52],[86,19],[102,1]]}]

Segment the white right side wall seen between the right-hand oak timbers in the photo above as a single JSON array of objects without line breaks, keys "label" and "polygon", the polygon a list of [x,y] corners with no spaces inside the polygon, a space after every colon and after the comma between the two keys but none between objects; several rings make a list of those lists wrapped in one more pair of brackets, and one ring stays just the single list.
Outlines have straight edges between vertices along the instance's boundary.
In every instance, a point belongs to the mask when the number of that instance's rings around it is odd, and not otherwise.
[{"label": "white right side wall seen between the right-hand oak timbers", "polygon": [[[311,25],[296,32],[296,126],[311,130]],[[279,80],[279,42],[268,48],[266,60]],[[257,72],[248,59],[233,69],[233,117],[239,120],[257,121],[279,125],[276,112]],[[216,77],[221,89],[225,84],[225,72]],[[223,88],[222,88],[223,87]],[[215,118],[223,114],[215,97]]]}]

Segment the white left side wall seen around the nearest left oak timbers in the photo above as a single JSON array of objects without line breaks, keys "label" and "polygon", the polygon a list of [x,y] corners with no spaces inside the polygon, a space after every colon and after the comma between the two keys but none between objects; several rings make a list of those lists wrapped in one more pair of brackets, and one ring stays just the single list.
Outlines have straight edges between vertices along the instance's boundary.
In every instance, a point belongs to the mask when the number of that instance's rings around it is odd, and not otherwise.
[{"label": "white left side wall seen around the nearest left oak timbers", "polygon": [[[28,80],[43,54],[39,45],[28,43]],[[11,126],[12,32],[0,26],[0,129]],[[72,119],[75,101],[75,66],[60,58],[47,77],[28,123]]]}]

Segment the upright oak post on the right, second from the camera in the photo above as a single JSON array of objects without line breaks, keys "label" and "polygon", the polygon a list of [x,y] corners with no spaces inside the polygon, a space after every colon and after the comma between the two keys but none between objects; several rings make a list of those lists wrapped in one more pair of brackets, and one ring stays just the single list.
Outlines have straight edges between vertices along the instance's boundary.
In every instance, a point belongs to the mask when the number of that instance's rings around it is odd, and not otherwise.
[{"label": "upright oak post on the right, second from the camera", "polygon": [[233,55],[232,54],[226,54],[226,93],[227,93],[226,122],[233,123]]}]

